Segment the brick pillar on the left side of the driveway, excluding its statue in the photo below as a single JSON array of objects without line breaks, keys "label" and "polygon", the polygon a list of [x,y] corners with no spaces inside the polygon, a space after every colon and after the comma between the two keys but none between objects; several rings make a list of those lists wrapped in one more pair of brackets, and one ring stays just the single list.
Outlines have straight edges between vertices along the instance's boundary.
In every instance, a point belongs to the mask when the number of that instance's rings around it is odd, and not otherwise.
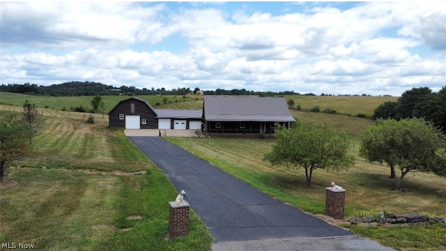
[{"label": "brick pillar on the left side of the driveway, excluding its statue", "polygon": [[169,236],[177,238],[189,234],[189,204],[169,201]]}]

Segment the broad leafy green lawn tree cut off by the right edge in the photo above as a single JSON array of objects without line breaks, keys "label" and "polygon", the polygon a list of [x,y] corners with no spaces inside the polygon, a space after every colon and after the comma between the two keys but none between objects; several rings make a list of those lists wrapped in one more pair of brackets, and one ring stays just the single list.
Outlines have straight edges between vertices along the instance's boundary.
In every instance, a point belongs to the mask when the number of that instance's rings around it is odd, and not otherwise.
[{"label": "broad leafy green lawn tree cut off by the right edge", "polygon": [[[395,189],[399,190],[408,172],[442,175],[445,147],[445,135],[430,121],[378,119],[376,126],[362,132],[360,156],[369,161],[386,162],[391,167]],[[395,174],[397,168],[401,171],[399,177]]]}]

